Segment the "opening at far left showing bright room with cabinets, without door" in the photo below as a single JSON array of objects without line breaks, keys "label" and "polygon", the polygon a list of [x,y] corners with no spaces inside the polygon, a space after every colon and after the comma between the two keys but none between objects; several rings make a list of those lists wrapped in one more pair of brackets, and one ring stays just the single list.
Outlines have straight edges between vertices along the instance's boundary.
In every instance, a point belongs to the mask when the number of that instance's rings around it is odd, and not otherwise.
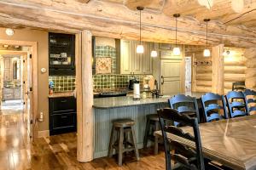
[{"label": "opening at far left showing bright room with cabinets, without door", "polygon": [[[20,47],[0,44],[1,57],[1,111],[4,115],[20,114],[22,101],[22,61]],[[3,49],[5,50],[3,52]],[[12,51],[14,50],[15,51]],[[16,54],[14,54],[14,52]],[[19,54],[20,53],[20,54]]]}]

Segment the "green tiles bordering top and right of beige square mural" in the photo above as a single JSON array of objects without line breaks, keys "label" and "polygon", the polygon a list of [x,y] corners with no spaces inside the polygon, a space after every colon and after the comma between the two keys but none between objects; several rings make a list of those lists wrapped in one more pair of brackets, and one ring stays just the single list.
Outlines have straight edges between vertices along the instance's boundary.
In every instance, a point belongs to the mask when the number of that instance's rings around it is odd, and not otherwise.
[{"label": "green tiles bordering top and right of beige square mural", "polygon": [[111,58],[111,73],[116,73],[116,48],[111,46],[97,45],[96,46],[96,59],[97,58]]}]

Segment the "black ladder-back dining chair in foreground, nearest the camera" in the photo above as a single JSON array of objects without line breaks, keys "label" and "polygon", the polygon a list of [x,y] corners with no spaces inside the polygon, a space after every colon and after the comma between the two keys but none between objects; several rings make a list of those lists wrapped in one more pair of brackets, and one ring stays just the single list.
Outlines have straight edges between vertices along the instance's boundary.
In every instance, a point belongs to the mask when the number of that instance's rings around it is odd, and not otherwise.
[{"label": "black ladder-back dining chair in foreground, nearest the camera", "polygon": [[[170,108],[160,109],[157,111],[157,113],[160,118],[160,127],[164,139],[166,170],[205,169],[197,118],[192,118],[188,115],[180,114],[177,110]],[[191,135],[189,133],[184,133],[183,130],[179,127],[166,126],[166,122],[168,121],[180,122],[186,126],[193,127],[194,134]],[[183,139],[194,141],[196,150],[186,147],[177,141],[168,139],[167,133],[177,135]],[[172,153],[172,160],[175,161],[173,168],[171,165],[171,149],[175,150],[175,153]]]}]

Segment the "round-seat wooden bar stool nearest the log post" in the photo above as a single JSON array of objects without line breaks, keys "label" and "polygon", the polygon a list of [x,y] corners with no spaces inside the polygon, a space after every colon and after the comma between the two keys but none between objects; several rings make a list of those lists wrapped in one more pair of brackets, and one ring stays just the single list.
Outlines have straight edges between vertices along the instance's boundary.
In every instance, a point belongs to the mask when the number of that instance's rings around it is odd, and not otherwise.
[{"label": "round-seat wooden bar stool nearest the log post", "polygon": [[[134,130],[135,122],[131,119],[120,119],[113,121],[113,127],[110,136],[108,157],[113,156],[113,149],[118,152],[118,164],[122,166],[123,153],[131,150],[135,151],[137,161],[139,161],[139,153],[137,149],[137,140]],[[130,134],[130,139],[129,135]],[[117,139],[114,140],[117,135]],[[125,146],[125,147],[124,147]]]}]

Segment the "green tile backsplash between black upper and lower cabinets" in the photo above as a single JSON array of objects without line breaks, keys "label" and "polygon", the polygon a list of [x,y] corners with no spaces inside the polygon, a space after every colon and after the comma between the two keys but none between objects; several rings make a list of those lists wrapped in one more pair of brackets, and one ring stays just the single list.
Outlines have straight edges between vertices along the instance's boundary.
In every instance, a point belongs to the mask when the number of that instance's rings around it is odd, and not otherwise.
[{"label": "green tile backsplash between black upper and lower cabinets", "polygon": [[73,76],[50,76],[49,81],[54,82],[54,92],[68,92],[75,88],[75,77]]}]

